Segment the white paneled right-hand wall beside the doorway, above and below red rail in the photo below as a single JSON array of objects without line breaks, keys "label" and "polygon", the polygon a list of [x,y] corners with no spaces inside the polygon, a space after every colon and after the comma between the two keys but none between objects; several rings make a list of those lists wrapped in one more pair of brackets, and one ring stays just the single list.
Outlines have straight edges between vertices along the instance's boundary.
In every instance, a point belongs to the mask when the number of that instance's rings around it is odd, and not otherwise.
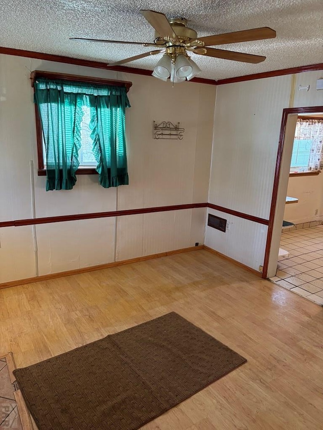
[{"label": "white paneled right-hand wall beside the doorway, above and below red rail", "polygon": [[[323,91],[315,90],[321,74],[298,74],[295,86],[287,75],[218,87],[210,203],[269,219],[283,109],[323,105]],[[308,92],[298,91],[308,84]],[[205,244],[258,270],[265,252],[263,228],[244,220],[220,235],[206,227]]]}]

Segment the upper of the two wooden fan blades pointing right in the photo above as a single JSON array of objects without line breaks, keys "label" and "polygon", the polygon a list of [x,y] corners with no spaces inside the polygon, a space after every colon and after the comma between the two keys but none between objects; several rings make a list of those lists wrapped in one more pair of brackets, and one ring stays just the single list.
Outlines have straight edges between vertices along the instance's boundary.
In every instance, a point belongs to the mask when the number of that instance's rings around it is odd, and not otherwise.
[{"label": "upper of the two wooden fan blades pointing right", "polygon": [[252,40],[272,39],[276,31],[269,27],[253,28],[251,30],[234,31],[233,33],[215,34],[214,36],[198,37],[205,46],[225,45],[227,43],[249,42]]}]

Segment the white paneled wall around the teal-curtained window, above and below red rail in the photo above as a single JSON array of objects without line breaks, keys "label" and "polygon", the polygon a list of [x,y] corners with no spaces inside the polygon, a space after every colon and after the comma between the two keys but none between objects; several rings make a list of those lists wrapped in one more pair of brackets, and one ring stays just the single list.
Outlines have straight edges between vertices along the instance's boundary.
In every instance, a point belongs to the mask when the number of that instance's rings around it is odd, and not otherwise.
[{"label": "white paneled wall around the teal-curtained window, above and below red rail", "polygon": [[[45,192],[37,176],[30,71],[132,81],[127,109],[129,186],[103,189],[79,175],[72,191]],[[0,55],[0,221],[207,201],[216,87]],[[152,139],[152,121],[180,122],[183,140]],[[203,243],[205,209],[0,228],[0,283]],[[35,260],[38,251],[38,258]]]}]

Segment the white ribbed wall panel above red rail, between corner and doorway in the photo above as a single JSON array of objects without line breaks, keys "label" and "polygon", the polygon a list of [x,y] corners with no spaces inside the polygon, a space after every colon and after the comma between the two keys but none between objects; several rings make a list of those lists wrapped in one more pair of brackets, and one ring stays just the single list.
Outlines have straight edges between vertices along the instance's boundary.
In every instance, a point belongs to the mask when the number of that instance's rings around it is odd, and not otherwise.
[{"label": "white ribbed wall panel above red rail, between corner and doorway", "polygon": [[269,217],[290,76],[218,87],[209,202]]}]

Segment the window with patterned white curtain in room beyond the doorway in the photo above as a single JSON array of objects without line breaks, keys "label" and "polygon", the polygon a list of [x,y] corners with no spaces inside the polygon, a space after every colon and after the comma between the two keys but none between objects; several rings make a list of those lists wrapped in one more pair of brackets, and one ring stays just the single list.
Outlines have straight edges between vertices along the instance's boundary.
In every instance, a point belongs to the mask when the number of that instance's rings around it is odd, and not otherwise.
[{"label": "window with patterned white curtain in room beyond the doorway", "polygon": [[318,172],[322,168],[323,119],[299,117],[291,159],[291,173]]}]

